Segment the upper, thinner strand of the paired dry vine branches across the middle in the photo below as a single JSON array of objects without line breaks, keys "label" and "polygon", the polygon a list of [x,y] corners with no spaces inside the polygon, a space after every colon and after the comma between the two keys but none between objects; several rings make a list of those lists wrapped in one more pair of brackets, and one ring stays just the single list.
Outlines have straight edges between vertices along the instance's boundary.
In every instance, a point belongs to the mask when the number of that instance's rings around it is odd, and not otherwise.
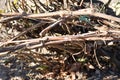
[{"label": "upper, thinner strand of the paired dry vine branches across the middle", "polygon": [[[26,42],[39,42],[39,41],[46,41],[46,40],[49,40],[49,41],[57,41],[57,40],[71,40],[71,39],[88,39],[90,40],[89,38],[93,38],[91,40],[99,40],[101,39],[102,40],[102,37],[106,37],[106,39],[104,40],[113,40],[112,37],[108,37],[106,36],[108,33],[111,33],[111,36],[112,34],[120,34],[120,31],[109,31],[109,32],[89,32],[89,33],[84,33],[84,34],[79,34],[79,35],[63,35],[63,36],[46,36],[46,37],[43,37],[43,38],[36,38],[36,39],[26,39],[26,40],[15,40],[15,41],[8,41],[8,42],[4,42],[6,44],[4,45],[7,45],[7,44],[11,44],[11,43],[26,43]],[[114,35],[113,35],[114,36]],[[99,39],[97,39],[96,37],[100,37]]]}]

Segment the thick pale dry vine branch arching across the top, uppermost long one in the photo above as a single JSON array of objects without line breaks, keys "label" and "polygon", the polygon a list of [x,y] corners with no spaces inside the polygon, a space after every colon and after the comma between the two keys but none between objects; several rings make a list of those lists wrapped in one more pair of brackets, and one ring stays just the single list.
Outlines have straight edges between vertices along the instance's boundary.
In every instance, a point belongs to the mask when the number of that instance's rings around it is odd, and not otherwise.
[{"label": "thick pale dry vine branch arching across the top, uppermost long one", "polygon": [[[21,15],[20,13],[16,13],[16,14],[0,14],[3,16],[19,16]],[[54,17],[54,16],[77,16],[77,15],[90,15],[90,16],[95,16],[95,17],[100,17],[100,18],[104,18],[104,19],[108,19],[108,20],[113,20],[116,22],[120,22],[120,18],[111,16],[111,15],[107,15],[107,14],[103,14],[103,13],[98,13],[98,12],[94,12],[93,9],[91,8],[87,8],[87,9],[81,9],[81,10],[77,10],[77,11],[56,11],[56,12],[49,12],[49,13],[40,13],[40,14],[26,14],[25,16],[23,16],[23,18],[44,18],[44,17]],[[6,19],[5,19],[6,20]],[[0,20],[0,22],[4,22],[4,19]]]}]

